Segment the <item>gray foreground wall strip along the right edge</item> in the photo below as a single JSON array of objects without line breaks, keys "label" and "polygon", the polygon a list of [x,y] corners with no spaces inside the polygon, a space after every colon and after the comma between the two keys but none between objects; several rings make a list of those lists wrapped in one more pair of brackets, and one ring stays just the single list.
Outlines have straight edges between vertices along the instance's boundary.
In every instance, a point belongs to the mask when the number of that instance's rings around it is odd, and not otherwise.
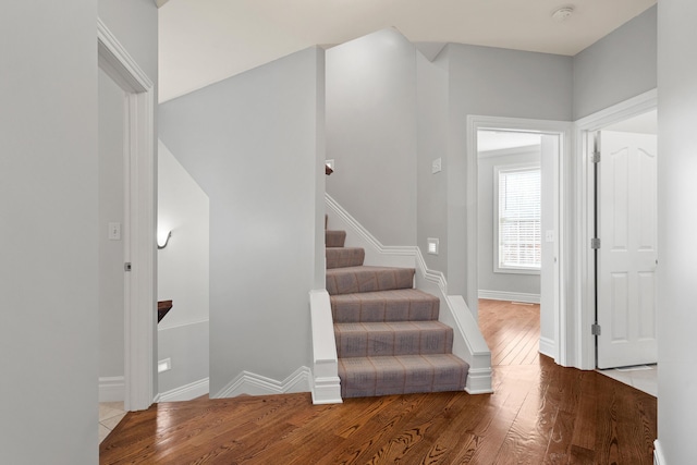
[{"label": "gray foreground wall strip along the right edge", "polygon": [[658,8],[658,433],[672,465],[697,457],[697,2]]}]

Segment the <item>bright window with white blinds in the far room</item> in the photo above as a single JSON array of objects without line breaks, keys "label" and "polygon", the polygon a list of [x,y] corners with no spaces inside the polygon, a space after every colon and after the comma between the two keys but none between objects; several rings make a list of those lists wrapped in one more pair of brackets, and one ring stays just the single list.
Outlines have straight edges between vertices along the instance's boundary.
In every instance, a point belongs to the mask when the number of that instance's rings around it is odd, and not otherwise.
[{"label": "bright window with white blinds in the far room", "polygon": [[498,272],[538,273],[541,264],[540,167],[496,167]]}]

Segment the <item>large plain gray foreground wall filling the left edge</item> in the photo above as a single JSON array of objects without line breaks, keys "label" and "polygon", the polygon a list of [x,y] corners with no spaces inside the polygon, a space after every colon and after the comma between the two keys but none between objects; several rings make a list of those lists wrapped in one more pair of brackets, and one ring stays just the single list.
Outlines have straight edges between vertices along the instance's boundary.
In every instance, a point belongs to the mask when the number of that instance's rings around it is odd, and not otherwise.
[{"label": "large plain gray foreground wall filling the left edge", "polygon": [[[157,36],[155,4],[139,3]],[[96,22],[95,0],[10,2],[0,15],[12,45],[0,60],[3,464],[98,462]]]}]

